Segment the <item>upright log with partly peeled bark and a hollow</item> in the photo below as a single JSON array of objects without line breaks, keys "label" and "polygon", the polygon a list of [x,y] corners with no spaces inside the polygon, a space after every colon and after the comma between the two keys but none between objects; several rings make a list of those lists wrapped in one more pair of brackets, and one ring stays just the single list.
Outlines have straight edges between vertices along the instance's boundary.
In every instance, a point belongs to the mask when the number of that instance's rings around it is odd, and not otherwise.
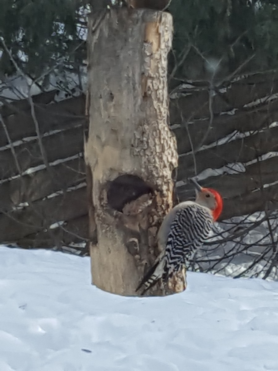
[{"label": "upright log with partly peeled bark and a hollow", "polygon": [[[113,9],[89,17],[89,192],[93,283],[106,291],[135,290],[159,253],[156,234],[172,207],[176,140],[168,128],[167,54],[172,16]],[[159,287],[158,287],[159,286]],[[185,289],[180,274],[170,287]]]}]

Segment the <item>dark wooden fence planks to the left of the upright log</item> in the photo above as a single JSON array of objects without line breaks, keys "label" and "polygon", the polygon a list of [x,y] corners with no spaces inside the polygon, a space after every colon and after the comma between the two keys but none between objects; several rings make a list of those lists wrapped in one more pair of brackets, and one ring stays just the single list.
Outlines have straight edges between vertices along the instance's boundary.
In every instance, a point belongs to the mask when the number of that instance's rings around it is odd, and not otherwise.
[{"label": "dark wooden fence planks to the left of the upright log", "polygon": [[[86,130],[84,115],[84,96],[54,103],[55,91],[34,96],[36,118],[39,121],[40,134],[44,136],[53,130],[52,135],[43,137],[43,145],[50,162],[79,154],[83,151],[83,131]],[[43,163],[36,136],[30,105],[27,100],[11,102],[1,107],[4,122],[11,141],[27,137],[27,141],[15,143],[15,153],[22,171]],[[77,128],[76,125],[78,125]],[[68,130],[67,130],[68,129]],[[63,132],[58,132],[63,130]],[[0,147],[8,143],[0,127]],[[70,186],[78,185],[85,180],[85,164],[82,158],[66,161],[50,168],[26,174],[0,184],[0,241],[21,242],[24,246],[58,246],[72,241],[80,242],[87,238],[87,204],[85,188],[66,192]],[[16,175],[17,169],[11,150],[0,151],[0,180]],[[58,191],[57,197],[49,196]],[[48,197],[45,198],[44,197]],[[17,210],[15,206],[21,204]],[[26,206],[28,205],[29,206]],[[25,205],[25,206],[24,206]],[[80,219],[79,216],[82,216]],[[67,219],[75,218],[75,222]],[[76,219],[77,218],[77,219]],[[48,226],[57,221],[66,220],[63,224],[69,233],[62,228],[48,230]],[[22,240],[22,237],[28,236]],[[78,238],[77,236],[80,236]],[[32,242],[33,241],[33,242]]]}]

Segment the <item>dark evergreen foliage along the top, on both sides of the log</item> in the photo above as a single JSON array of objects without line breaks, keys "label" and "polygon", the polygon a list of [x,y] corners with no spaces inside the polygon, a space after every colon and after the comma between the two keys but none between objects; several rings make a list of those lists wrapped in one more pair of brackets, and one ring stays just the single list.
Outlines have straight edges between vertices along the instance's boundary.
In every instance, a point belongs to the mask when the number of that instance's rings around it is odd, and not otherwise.
[{"label": "dark evergreen foliage along the top, on both sides of the log", "polygon": [[[89,9],[88,2],[0,0],[0,36],[25,73],[36,78],[45,74],[47,84],[47,70],[78,71],[86,59],[82,10]],[[277,0],[172,0],[169,10],[175,77],[208,79],[213,74],[223,79],[277,68]],[[14,74],[1,43],[0,57],[0,73]]]}]

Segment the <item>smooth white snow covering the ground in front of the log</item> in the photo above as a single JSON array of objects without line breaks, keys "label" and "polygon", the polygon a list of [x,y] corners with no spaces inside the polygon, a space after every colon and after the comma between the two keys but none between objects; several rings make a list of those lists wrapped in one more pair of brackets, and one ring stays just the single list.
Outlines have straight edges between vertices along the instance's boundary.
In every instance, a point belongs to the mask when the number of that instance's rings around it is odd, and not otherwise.
[{"label": "smooth white snow covering the ground in front of the log", "polygon": [[164,298],[90,285],[88,257],[0,247],[1,371],[278,370],[278,282],[188,273]]}]

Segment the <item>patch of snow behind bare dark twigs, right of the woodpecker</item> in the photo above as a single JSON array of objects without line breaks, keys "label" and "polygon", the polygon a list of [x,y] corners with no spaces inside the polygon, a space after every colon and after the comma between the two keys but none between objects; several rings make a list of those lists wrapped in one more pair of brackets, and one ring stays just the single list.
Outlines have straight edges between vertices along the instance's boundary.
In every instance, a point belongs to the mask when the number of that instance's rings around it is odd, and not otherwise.
[{"label": "patch of snow behind bare dark twigs, right of the woodpecker", "polygon": [[[275,259],[272,236],[277,240],[277,212],[235,216],[215,223],[213,234],[196,251],[194,271],[219,273],[223,276],[264,278]],[[254,262],[257,262],[254,264]],[[278,280],[277,265],[268,272],[267,280]]]}]

